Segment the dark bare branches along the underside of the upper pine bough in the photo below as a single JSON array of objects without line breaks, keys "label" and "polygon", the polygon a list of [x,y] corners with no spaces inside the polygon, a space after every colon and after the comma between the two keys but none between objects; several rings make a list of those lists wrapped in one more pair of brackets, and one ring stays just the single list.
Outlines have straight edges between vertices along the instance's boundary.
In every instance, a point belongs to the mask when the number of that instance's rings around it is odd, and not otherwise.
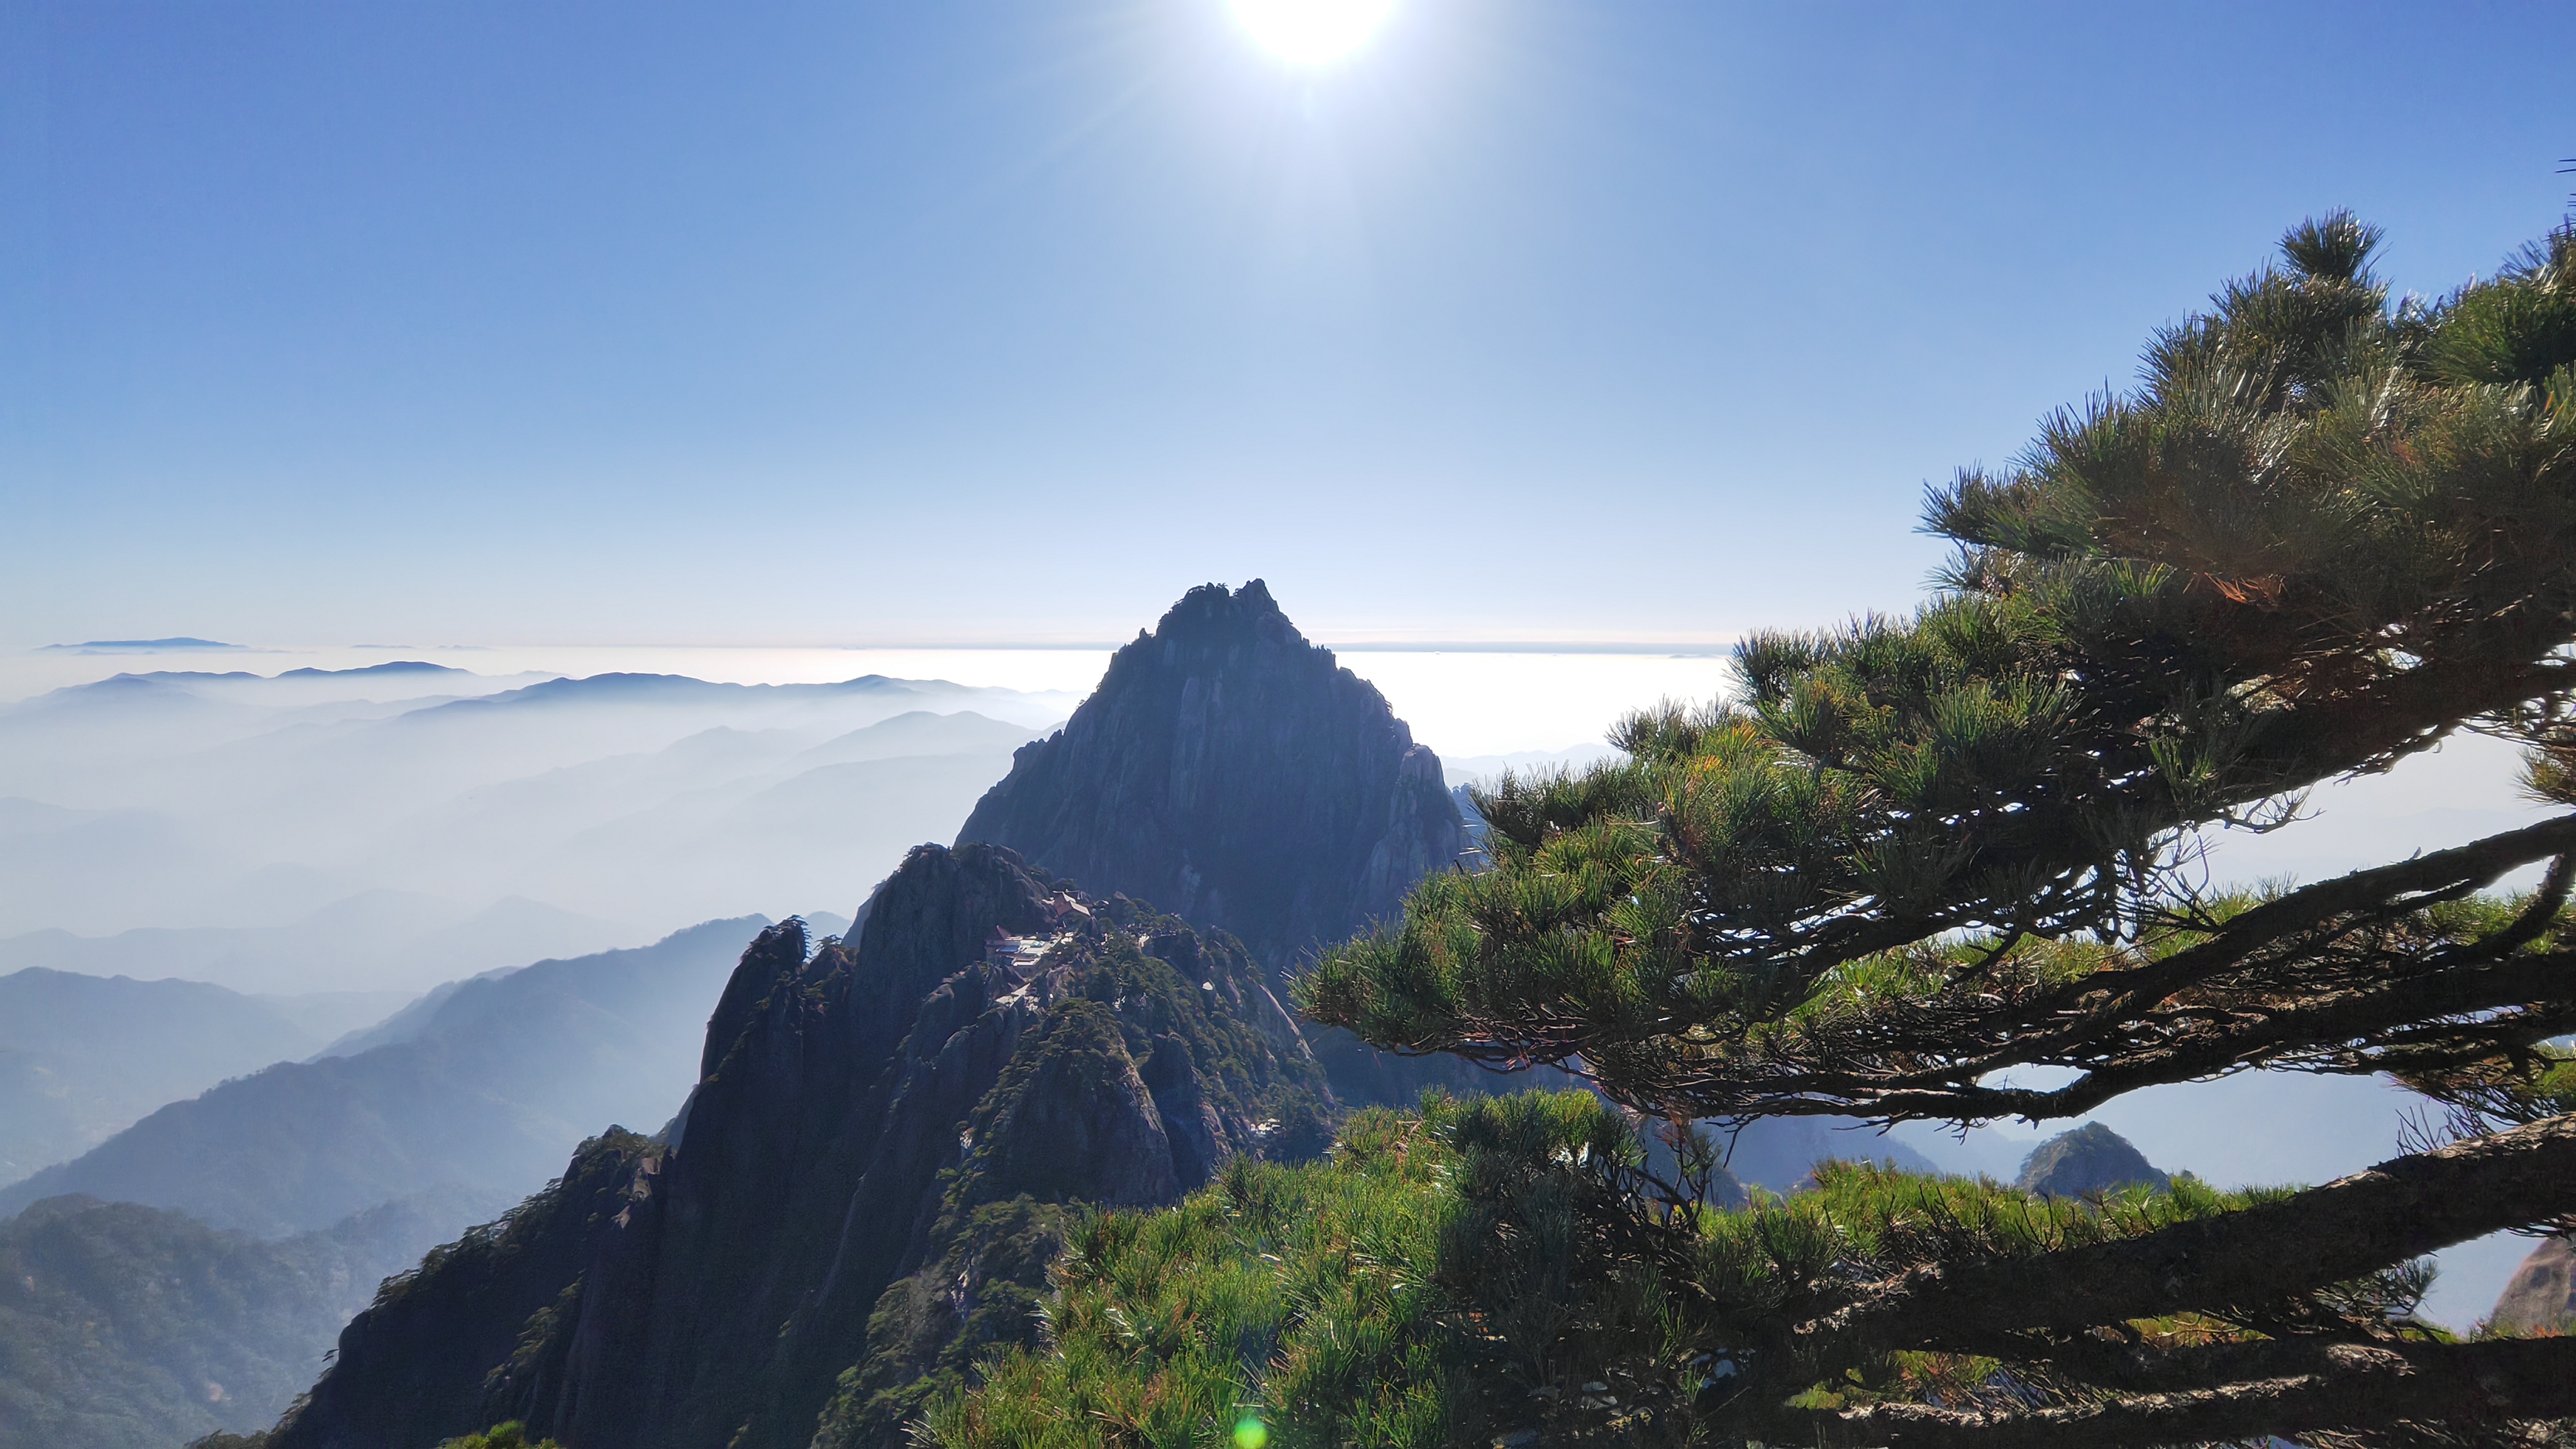
[{"label": "dark bare branches along the underside of the upper pine bough", "polygon": [[[1623,1080],[1651,1080],[1656,1104],[1682,1101],[1703,1116],[1883,1122],[2076,1116],[2141,1085],[2257,1065],[2434,1070],[2576,1029],[2576,957],[2512,954],[2555,923],[2568,871],[2553,869],[2532,905],[2486,938],[2370,933],[2568,851],[2576,815],[2295,890],[2136,967],[2025,990],[1971,969],[1922,1000],[1710,1047],[1698,1070],[1620,1044],[1592,1044],[1595,1062],[1579,1070],[1613,1096]],[[2050,1091],[1978,1085],[2032,1065],[2087,1075]]]}]

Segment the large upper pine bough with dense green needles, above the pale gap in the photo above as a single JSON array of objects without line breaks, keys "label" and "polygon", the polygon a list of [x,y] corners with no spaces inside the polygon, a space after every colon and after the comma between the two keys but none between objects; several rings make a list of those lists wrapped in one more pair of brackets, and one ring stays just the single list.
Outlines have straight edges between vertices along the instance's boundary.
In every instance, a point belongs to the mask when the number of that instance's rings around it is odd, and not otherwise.
[{"label": "large upper pine bough with dense green needles, above the pale gap", "polygon": [[[2264,895],[2210,828],[2460,730],[2576,804],[2576,232],[2391,302],[2334,214],[2156,335],[2136,394],[1935,487],[1911,619],[1739,645],[1734,699],[1479,794],[1301,1003],[1561,1062],[1654,1116],[2071,1116],[2244,1067],[2494,1080],[2576,1029],[2576,815]],[[2550,861],[2527,897],[2478,895]],[[1986,1085],[2071,1067],[2050,1091]]]}]

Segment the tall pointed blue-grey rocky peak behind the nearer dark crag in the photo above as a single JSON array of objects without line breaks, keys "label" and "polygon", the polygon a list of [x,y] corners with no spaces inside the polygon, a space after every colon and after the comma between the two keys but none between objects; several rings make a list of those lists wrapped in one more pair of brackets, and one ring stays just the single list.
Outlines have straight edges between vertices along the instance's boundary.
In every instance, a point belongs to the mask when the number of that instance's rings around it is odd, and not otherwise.
[{"label": "tall pointed blue-grey rocky peak behind the nearer dark crag", "polygon": [[[958,830],[969,841],[1226,931],[1273,987],[1316,946],[1399,915],[1417,879],[1468,848],[1440,758],[1262,580],[1193,588],[1118,650],[1064,730],[1012,755]],[[1309,1039],[1352,1098],[1473,1085],[1453,1060]]]}]

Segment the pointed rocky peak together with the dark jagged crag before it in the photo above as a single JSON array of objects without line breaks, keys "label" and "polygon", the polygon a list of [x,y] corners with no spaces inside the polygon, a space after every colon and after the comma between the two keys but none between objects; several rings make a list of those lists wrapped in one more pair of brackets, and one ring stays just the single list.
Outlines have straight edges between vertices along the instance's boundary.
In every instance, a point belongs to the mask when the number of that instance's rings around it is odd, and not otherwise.
[{"label": "pointed rocky peak together with the dark jagged crag before it", "polygon": [[1327,1073],[1381,1101],[1461,1073],[1314,1044],[1278,995],[1461,848],[1376,688],[1257,580],[1193,590],[850,938],[752,941],[665,1134],[585,1142],[389,1284],[270,1449],[507,1418],[569,1449],[904,1444],[1033,1341],[1079,1204],[1321,1152]]}]

